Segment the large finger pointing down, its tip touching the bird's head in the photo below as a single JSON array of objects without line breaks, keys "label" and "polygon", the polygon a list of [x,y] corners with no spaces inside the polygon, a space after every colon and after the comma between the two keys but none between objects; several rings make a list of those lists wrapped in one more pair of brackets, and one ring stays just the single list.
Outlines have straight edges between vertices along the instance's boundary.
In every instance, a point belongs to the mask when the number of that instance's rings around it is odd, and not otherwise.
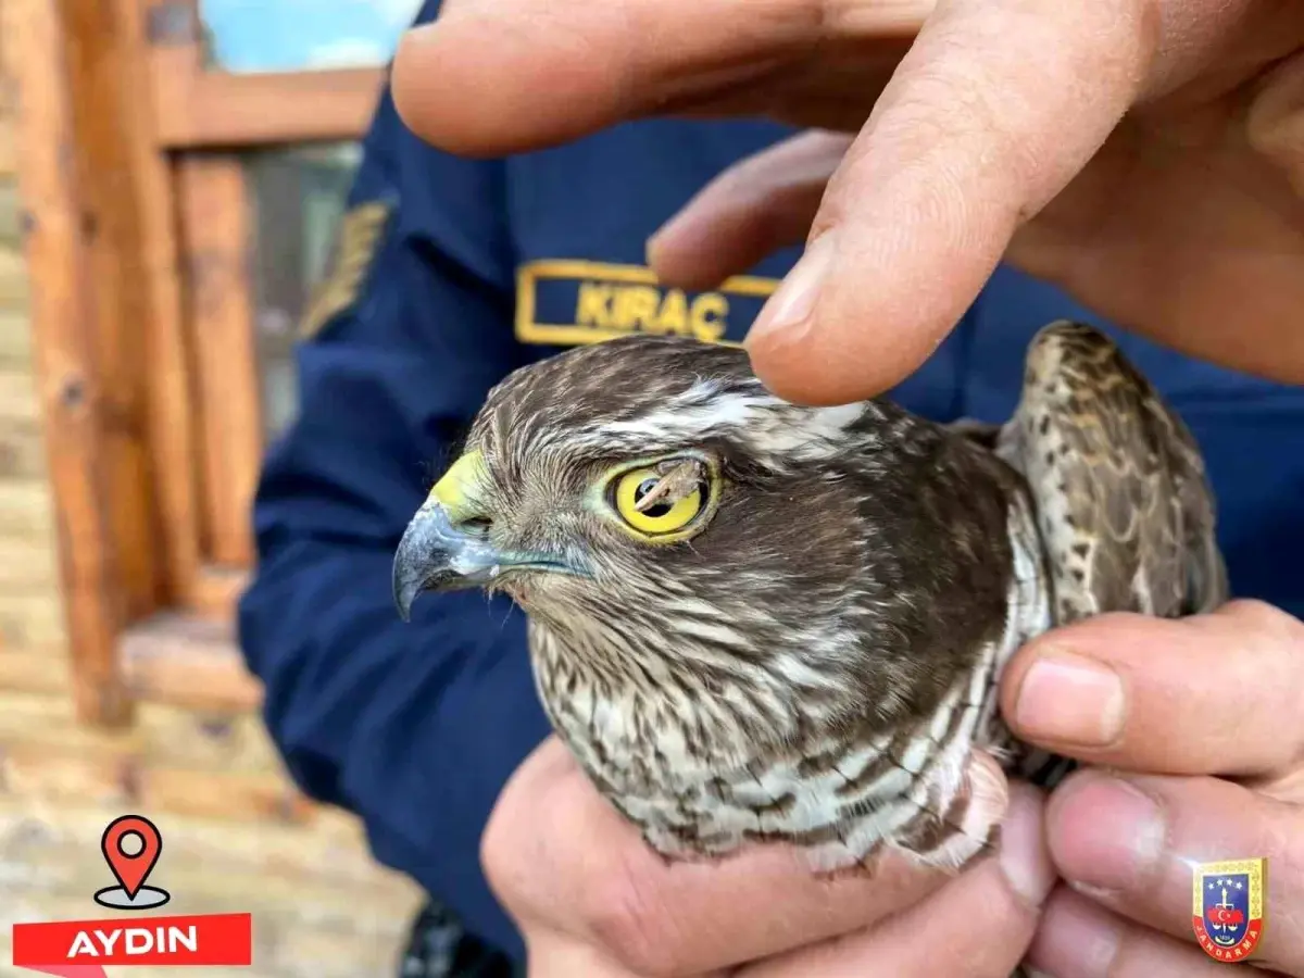
[{"label": "large finger pointing down, its tip touching the bird's head", "polygon": [[751,330],[747,348],[768,386],[841,403],[919,366],[1016,227],[1132,103],[1151,56],[1148,8],[939,4],[833,176],[805,256]]}]

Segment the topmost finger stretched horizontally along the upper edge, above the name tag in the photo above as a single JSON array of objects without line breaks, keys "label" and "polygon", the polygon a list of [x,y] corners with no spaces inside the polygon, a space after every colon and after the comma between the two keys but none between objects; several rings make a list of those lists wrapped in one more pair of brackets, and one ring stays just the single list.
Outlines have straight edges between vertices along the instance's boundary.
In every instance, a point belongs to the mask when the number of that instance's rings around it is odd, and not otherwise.
[{"label": "topmost finger stretched horizontally along the upper edge, above the name tag", "polygon": [[[931,8],[931,0],[846,8],[825,0],[458,0],[403,37],[391,85],[413,132],[468,155],[540,149],[640,115],[715,107],[786,116],[785,99],[831,64],[841,85],[863,93],[849,108],[858,125]],[[816,47],[823,59],[811,59]],[[879,86],[867,82],[875,77]],[[820,103],[833,94],[808,99],[810,112],[828,115]]]}]

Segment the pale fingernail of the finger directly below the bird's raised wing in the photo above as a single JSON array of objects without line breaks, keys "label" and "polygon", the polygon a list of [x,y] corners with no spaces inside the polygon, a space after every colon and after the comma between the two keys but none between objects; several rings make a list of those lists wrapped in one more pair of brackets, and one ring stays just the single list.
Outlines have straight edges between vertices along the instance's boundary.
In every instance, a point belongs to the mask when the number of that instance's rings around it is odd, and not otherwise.
[{"label": "pale fingernail of the finger directly below the bird's raised wing", "polygon": [[1123,732],[1125,712],[1119,674],[1072,652],[1046,652],[1024,675],[1015,703],[1020,733],[1103,747]]}]

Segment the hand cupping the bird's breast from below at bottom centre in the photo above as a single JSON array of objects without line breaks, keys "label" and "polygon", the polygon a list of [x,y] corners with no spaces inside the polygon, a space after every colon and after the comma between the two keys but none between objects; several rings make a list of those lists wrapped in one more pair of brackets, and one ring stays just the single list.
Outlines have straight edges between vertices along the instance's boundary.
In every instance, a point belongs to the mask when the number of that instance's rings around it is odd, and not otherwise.
[{"label": "hand cupping the bird's breast from below at bottom centre", "polygon": [[[798,978],[872,971],[1007,978],[1050,892],[1042,799],[977,762],[975,790],[1009,807],[996,858],[962,874],[892,857],[818,878],[789,849],[666,863],[592,788],[557,738],[518,769],[485,831],[490,885],[531,978]],[[994,810],[1005,806],[995,803]],[[885,926],[875,927],[888,914]]]}]

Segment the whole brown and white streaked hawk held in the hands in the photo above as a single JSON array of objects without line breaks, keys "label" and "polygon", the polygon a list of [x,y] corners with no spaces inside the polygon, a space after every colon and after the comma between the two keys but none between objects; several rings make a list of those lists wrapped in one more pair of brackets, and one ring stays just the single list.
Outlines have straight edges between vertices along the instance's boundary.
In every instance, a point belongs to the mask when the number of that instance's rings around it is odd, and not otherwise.
[{"label": "whole brown and white streaked hawk held in the hands", "polygon": [[780,840],[837,871],[985,849],[974,747],[1043,785],[1068,769],[999,716],[1021,644],[1210,610],[1227,584],[1189,432],[1059,321],[1003,425],[793,404],[745,351],[685,338],[524,366],[395,554],[404,619],[452,588],[526,610],[553,728],[665,858]]}]

